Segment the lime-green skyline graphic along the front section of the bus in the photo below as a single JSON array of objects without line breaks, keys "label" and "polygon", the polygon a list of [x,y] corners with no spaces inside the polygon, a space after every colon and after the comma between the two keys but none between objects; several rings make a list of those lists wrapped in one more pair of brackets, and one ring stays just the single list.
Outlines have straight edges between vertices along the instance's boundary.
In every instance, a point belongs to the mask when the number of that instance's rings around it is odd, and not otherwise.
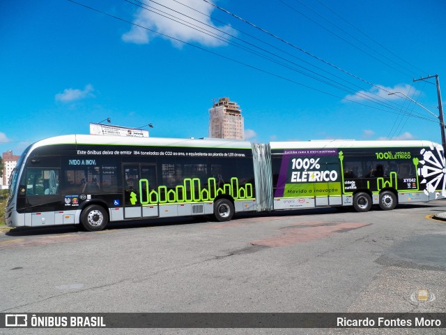
[{"label": "lime-green skyline graphic along the front section of the bus", "polygon": [[211,201],[221,194],[231,195],[234,200],[254,198],[252,184],[239,186],[236,177],[231,178],[231,182],[223,184],[222,187],[219,187],[215,178],[209,178],[207,186],[204,187],[201,186],[199,178],[186,178],[183,185],[178,185],[175,189],[168,190],[167,186],[158,186],[151,191],[148,179],[139,180],[139,203],[143,205]]}]

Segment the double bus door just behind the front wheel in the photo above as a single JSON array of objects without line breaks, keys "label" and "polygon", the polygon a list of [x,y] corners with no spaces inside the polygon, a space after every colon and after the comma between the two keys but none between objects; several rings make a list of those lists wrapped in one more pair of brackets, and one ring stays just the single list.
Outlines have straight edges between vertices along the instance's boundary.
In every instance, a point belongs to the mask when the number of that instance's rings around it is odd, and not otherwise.
[{"label": "double bus door just behind the front wheel", "polygon": [[155,164],[125,164],[124,218],[159,216]]}]

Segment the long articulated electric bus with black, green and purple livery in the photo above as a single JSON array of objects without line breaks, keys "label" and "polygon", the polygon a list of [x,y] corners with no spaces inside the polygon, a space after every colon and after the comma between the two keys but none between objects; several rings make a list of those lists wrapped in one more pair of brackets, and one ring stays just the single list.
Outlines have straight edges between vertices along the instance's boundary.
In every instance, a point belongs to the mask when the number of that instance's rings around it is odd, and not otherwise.
[{"label": "long articulated electric bus with black, green and purple livery", "polygon": [[10,177],[10,227],[398,203],[444,198],[429,141],[270,142],[66,135],[31,144]]}]

